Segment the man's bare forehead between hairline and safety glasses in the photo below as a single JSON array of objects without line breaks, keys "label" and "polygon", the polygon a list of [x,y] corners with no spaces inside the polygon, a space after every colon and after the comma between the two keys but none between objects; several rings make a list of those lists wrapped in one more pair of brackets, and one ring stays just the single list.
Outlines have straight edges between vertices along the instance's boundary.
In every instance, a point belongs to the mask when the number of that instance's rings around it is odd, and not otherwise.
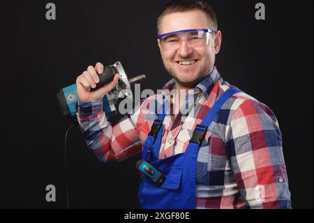
[{"label": "man's bare forehead between hairline and safety glasses", "polygon": [[166,14],[160,23],[160,33],[184,29],[209,29],[209,19],[202,10]]}]

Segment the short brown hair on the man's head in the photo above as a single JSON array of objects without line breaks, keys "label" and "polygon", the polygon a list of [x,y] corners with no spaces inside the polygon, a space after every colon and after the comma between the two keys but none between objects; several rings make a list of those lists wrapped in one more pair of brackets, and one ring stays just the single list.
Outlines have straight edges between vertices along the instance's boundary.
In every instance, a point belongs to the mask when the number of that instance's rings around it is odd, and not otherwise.
[{"label": "short brown hair on the man's head", "polygon": [[157,19],[157,32],[158,34],[160,31],[160,23],[163,17],[169,13],[179,13],[179,12],[186,12],[189,10],[202,10],[204,13],[207,14],[209,17],[210,24],[213,25],[214,29],[218,29],[216,13],[214,12],[213,8],[209,6],[206,1],[202,0],[173,0],[170,3],[167,3],[163,10],[161,10],[160,15]]}]

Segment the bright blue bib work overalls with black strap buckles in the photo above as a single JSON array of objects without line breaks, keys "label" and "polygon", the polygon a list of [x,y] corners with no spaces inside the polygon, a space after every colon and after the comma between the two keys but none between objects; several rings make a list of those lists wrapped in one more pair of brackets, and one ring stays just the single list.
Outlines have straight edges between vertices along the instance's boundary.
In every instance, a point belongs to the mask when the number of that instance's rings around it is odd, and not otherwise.
[{"label": "bright blue bib work overalls with black strap buckles", "polygon": [[154,121],[144,143],[142,159],[149,161],[165,175],[166,179],[163,185],[158,186],[147,178],[142,178],[139,188],[141,208],[194,209],[196,207],[195,172],[199,146],[218,110],[237,92],[241,91],[237,88],[230,88],[220,96],[202,123],[195,127],[186,152],[158,160],[163,133],[162,123],[165,118],[165,105],[163,105],[163,113]]}]

